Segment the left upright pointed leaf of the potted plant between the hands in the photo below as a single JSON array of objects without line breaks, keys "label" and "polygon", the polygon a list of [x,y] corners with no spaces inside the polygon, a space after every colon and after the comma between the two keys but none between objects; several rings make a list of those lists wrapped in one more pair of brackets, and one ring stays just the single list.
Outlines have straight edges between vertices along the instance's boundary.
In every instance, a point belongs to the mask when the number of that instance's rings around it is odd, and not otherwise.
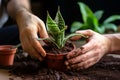
[{"label": "left upright pointed leaf of the potted plant between the hands", "polygon": [[59,45],[61,45],[61,35],[59,35],[61,31],[57,23],[50,17],[49,13],[47,14],[46,27],[49,37],[51,38],[50,41],[59,47]]}]

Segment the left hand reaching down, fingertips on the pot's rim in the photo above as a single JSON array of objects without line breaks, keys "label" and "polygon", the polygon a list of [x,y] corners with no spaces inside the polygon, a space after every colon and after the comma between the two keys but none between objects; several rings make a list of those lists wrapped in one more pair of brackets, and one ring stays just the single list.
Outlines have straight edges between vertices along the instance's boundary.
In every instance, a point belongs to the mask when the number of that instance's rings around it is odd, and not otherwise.
[{"label": "left hand reaching down, fingertips on the pot's rim", "polygon": [[16,21],[19,27],[20,41],[23,50],[31,56],[38,58],[40,61],[43,60],[46,52],[37,38],[38,35],[41,38],[48,38],[44,22],[28,11],[18,13]]}]

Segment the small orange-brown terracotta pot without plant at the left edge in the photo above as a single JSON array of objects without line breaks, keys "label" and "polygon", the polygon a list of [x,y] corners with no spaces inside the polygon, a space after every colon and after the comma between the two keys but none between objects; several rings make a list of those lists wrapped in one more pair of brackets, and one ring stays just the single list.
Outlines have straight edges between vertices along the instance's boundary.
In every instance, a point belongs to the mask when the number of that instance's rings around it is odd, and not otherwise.
[{"label": "small orange-brown terracotta pot without plant at the left edge", "polygon": [[0,46],[0,65],[10,66],[13,65],[14,55],[17,48],[12,49],[12,45],[1,45]]}]

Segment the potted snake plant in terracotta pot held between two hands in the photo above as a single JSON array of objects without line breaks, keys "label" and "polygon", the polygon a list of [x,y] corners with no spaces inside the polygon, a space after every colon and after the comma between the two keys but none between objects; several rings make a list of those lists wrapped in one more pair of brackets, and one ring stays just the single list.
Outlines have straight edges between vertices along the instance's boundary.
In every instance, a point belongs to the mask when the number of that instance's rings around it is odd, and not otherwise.
[{"label": "potted snake plant in terracotta pot held between two hands", "polygon": [[[74,44],[67,43],[68,39],[72,36],[85,36],[76,33],[69,34],[67,36],[65,35],[67,27],[65,26],[65,21],[60,13],[60,8],[58,8],[54,20],[51,18],[50,14],[47,13],[46,28],[49,35],[49,38],[46,39],[46,43],[48,45],[45,46],[45,50],[47,52],[45,61],[47,66],[51,69],[65,71],[67,70],[64,64],[66,59],[65,56],[75,49]],[[72,45],[69,46],[69,44]],[[66,52],[64,52],[64,50]]]}]

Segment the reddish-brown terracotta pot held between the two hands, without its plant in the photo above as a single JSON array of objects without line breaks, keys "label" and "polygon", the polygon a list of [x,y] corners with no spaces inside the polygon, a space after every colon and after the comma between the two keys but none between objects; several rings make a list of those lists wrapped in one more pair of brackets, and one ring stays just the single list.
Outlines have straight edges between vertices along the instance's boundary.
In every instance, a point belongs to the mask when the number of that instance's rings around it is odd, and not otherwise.
[{"label": "reddish-brown terracotta pot held between the two hands, without its plant", "polygon": [[47,67],[51,68],[51,69],[55,69],[58,71],[66,71],[66,66],[64,64],[65,60],[66,60],[66,55],[68,53],[73,52],[73,50],[76,48],[74,44],[73,45],[73,49],[70,52],[67,53],[61,53],[61,54],[54,54],[54,53],[47,53],[46,54],[46,63],[47,63]]}]

